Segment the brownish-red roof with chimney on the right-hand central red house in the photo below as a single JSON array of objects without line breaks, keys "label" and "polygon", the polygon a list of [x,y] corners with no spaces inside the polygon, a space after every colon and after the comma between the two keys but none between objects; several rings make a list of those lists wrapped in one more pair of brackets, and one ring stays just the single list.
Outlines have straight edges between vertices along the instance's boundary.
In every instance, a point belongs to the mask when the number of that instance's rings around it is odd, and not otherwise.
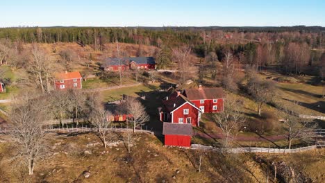
[{"label": "brownish-red roof with chimney on the right-hand central red house", "polygon": [[222,87],[184,89],[183,94],[190,100],[224,98]]}]

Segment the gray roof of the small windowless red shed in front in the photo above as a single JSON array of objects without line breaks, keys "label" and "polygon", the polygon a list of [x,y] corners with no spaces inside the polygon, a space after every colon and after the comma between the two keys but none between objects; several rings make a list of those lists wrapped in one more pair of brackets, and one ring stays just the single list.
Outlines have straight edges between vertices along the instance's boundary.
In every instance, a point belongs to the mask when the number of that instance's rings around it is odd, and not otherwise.
[{"label": "gray roof of the small windowless red shed in front", "polygon": [[192,136],[192,124],[190,123],[164,123],[163,134],[176,134]]}]

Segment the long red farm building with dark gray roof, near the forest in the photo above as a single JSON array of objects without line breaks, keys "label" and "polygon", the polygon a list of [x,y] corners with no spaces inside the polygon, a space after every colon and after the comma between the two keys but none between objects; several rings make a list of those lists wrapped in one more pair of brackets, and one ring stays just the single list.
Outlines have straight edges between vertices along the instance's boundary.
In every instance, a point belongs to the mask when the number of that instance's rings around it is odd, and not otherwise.
[{"label": "long red farm building with dark gray roof, near the forest", "polygon": [[135,58],[107,58],[101,66],[105,71],[119,71],[119,69],[156,69],[153,57]]}]

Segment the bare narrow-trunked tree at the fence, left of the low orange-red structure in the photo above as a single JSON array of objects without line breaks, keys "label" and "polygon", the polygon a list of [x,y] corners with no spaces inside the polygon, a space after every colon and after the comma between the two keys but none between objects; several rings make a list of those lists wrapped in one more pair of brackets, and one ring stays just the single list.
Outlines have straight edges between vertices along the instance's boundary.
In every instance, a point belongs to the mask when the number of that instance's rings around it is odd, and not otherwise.
[{"label": "bare narrow-trunked tree at the fence, left of the low orange-red structure", "polygon": [[106,137],[109,133],[108,127],[110,126],[108,116],[110,116],[110,112],[103,110],[101,106],[97,106],[90,114],[91,122],[97,128],[97,137],[101,139],[104,148],[106,148]]}]

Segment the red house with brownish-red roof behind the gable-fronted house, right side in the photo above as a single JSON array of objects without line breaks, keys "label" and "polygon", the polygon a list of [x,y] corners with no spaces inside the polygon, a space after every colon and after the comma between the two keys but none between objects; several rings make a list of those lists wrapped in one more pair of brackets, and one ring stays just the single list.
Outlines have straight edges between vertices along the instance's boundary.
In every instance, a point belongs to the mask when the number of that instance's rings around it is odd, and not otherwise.
[{"label": "red house with brownish-red roof behind the gable-fronted house, right side", "polygon": [[188,98],[202,112],[222,112],[224,111],[224,90],[222,87],[198,89],[184,89],[182,94]]}]

